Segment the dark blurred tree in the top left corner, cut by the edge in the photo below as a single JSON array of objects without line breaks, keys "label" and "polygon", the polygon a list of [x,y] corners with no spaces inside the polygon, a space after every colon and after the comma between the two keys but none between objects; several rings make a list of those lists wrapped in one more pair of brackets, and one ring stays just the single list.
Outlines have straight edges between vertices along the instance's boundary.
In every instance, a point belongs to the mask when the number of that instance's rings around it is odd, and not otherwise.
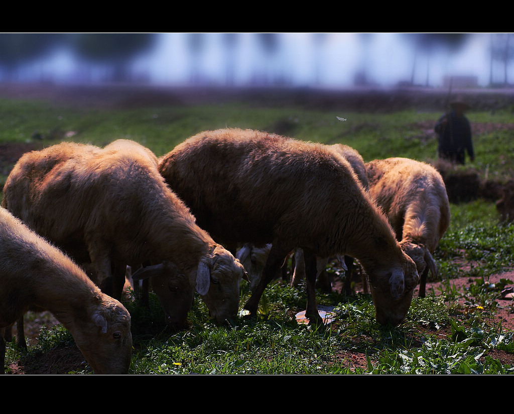
[{"label": "dark blurred tree in the top left corner, cut by the edge", "polygon": [[64,43],[61,33],[0,33],[0,68],[6,81],[16,81],[17,71]]}]

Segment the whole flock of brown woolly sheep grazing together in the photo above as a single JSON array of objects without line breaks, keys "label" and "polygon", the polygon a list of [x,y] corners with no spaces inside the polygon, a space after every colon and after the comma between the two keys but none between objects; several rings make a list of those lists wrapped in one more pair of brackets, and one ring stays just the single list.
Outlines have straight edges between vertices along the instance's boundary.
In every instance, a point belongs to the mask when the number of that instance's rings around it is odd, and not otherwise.
[{"label": "whole flock of brown woolly sheep grazing together", "polygon": [[[3,191],[0,372],[5,329],[46,309],[95,373],[127,373],[131,317],[119,302],[127,266],[134,280],[149,280],[169,325],[186,322],[195,291],[224,324],[237,316],[241,279],[252,283],[241,315],[255,315],[296,251],[306,316],[319,325],[316,277],[344,256],[346,268],[361,266],[377,321],[399,325],[420,280],[425,295],[450,219],[443,180],[427,164],[365,164],[347,146],[240,129],[199,133],[160,158],[124,139],[103,149],[62,142],[24,154]],[[256,275],[242,264],[249,246],[266,246]]]}]

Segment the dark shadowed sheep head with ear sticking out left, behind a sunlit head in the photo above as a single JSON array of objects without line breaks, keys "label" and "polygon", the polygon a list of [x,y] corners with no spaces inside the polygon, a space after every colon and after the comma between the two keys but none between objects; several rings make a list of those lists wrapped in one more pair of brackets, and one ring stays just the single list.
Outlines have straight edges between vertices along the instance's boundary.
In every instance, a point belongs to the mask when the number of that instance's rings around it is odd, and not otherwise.
[{"label": "dark shadowed sheep head with ear sticking out left, behind a sunlit head", "polygon": [[132,275],[133,280],[150,278],[150,285],[166,315],[169,327],[179,330],[186,325],[194,298],[189,277],[169,261],[141,267]]}]

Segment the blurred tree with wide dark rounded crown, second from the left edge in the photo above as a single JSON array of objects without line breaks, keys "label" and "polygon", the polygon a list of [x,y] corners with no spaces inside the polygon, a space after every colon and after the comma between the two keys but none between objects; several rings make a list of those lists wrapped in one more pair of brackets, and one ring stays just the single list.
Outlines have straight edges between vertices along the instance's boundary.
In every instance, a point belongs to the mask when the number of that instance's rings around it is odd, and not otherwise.
[{"label": "blurred tree with wide dark rounded crown, second from the left edge", "polygon": [[150,50],[155,33],[76,33],[69,35],[71,48],[86,61],[110,66],[112,81],[130,81],[130,63]]}]

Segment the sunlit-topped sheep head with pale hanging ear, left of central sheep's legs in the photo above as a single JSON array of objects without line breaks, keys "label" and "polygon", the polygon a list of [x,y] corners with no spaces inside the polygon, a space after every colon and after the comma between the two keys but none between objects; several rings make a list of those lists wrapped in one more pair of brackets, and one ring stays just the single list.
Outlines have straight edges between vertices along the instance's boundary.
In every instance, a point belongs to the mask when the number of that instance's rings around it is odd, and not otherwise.
[{"label": "sunlit-topped sheep head with pale hanging ear, left of central sheep's legs", "polygon": [[224,325],[239,309],[239,282],[247,278],[239,260],[216,244],[200,260],[196,275],[196,290],[209,308],[211,318]]}]

